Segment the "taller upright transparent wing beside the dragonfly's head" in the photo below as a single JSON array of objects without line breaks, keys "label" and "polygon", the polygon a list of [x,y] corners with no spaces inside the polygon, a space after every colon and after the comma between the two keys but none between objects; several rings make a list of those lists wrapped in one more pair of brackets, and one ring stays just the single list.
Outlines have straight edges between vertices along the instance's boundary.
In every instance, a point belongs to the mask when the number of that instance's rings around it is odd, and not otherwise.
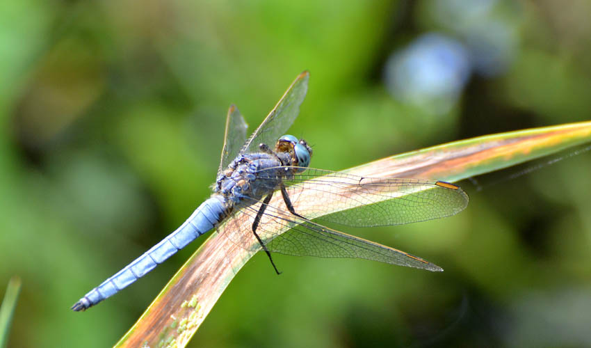
[{"label": "taller upright transparent wing beside the dragonfly's head", "polygon": [[287,132],[300,113],[300,104],[304,101],[308,90],[309,76],[309,72],[305,71],[295,78],[275,108],[246,141],[241,153],[257,152],[260,143],[265,143],[270,148],[274,147],[277,139]]}]

